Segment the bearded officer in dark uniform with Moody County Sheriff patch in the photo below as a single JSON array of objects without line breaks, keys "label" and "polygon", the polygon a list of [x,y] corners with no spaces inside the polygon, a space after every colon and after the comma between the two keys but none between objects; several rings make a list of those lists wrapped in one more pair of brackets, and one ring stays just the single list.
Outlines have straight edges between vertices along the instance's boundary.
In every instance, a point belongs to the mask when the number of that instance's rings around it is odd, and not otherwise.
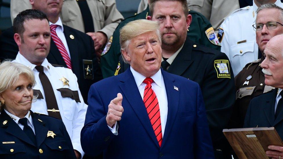
[{"label": "bearded officer in dark uniform with Moody County Sheriff patch", "polygon": [[[149,19],[159,22],[159,30],[162,33],[161,67],[169,73],[183,76],[200,85],[215,158],[231,158],[226,149],[228,142],[225,141],[222,133],[222,130],[228,126],[235,101],[230,61],[224,53],[192,42],[186,36],[187,30],[184,28],[188,27],[187,22],[190,21],[191,16],[184,14],[181,3],[186,3],[186,0],[160,0],[156,1],[152,8],[153,14]],[[184,15],[187,15],[187,19]],[[171,17],[174,16],[176,19],[171,21]],[[168,32],[176,32],[176,34],[167,34]],[[143,49],[148,46],[141,44],[140,47]],[[117,71],[124,72],[129,65],[120,62]]]}]

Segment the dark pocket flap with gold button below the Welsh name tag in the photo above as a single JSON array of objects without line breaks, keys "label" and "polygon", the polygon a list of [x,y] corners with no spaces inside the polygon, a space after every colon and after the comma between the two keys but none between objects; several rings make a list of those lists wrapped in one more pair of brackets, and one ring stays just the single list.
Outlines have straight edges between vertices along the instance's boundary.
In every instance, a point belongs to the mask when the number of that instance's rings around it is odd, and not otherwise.
[{"label": "dark pocket flap with gold button below the Welsh name tag", "polygon": [[0,145],[0,154],[14,154],[26,152],[24,144],[2,144]]}]

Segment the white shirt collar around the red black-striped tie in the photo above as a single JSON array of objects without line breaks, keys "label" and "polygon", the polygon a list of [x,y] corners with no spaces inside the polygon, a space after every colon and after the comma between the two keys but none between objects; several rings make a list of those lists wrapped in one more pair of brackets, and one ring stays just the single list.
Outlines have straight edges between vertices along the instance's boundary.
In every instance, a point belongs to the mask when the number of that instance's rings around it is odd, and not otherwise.
[{"label": "white shirt collar around the red black-striped tie", "polygon": [[[139,87],[146,77],[144,75],[140,74],[139,72],[135,71],[132,66],[130,66],[130,70],[131,70],[131,72],[132,72],[132,74],[134,76],[134,79],[135,79],[135,82],[137,84],[137,87]],[[161,87],[161,80],[162,80],[161,69],[159,69],[158,72],[156,72],[156,74],[154,74],[150,78],[152,78],[153,81],[159,87]]]}]

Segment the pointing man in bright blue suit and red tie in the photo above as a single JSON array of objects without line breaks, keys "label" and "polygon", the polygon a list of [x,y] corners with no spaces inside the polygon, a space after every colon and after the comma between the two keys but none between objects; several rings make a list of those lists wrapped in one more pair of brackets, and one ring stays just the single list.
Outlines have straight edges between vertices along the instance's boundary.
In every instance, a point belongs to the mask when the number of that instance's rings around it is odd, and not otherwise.
[{"label": "pointing man in bright blue suit and red tie", "polygon": [[[174,35],[171,35],[174,36]],[[120,30],[126,72],[91,86],[84,152],[104,158],[214,158],[200,87],[163,71],[155,21]]]}]

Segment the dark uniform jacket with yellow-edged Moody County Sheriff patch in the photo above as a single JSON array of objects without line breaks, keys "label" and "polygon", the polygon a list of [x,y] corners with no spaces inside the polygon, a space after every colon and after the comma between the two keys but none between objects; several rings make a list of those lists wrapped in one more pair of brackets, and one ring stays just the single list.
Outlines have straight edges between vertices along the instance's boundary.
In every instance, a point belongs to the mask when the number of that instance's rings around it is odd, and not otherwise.
[{"label": "dark uniform jacket with yellow-edged Moody County Sheriff patch", "polygon": [[[225,74],[220,73],[217,63],[222,61],[228,62],[226,65],[230,78],[221,77]],[[123,61],[120,63],[119,72],[124,72],[129,65]],[[194,43],[187,38],[167,72],[189,78],[199,84],[213,146],[223,151],[226,148],[223,140],[226,141],[226,139],[222,130],[228,126],[236,96],[234,76],[226,54]]]}]

